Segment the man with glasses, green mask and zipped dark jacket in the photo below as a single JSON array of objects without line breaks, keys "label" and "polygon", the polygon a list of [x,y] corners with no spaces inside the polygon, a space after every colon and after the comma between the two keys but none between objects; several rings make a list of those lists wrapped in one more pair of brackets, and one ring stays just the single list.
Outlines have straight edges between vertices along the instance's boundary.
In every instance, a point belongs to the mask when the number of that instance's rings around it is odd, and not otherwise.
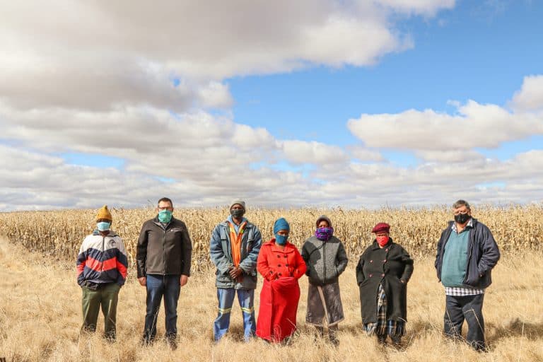
[{"label": "man with glasses, green mask and zipped dark jacket", "polygon": [[138,281],[147,288],[144,344],[156,337],[156,318],[164,297],[166,339],[177,348],[177,300],[190,276],[192,243],[184,222],[172,216],[173,203],[158,200],[158,215],[144,223],[136,250]]}]

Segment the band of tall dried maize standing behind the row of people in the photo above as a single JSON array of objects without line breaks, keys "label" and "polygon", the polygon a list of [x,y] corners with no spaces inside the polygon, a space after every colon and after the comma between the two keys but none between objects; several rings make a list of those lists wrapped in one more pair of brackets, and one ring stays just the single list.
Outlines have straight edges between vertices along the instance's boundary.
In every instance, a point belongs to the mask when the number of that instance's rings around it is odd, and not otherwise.
[{"label": "band of tall dried maize standing behind the row of people", "polygon": [[[14,243],[50,257],[73,261],[81,241],[95,227],[95,210],[21,211],[0,214],[0,233]],[[375,223],[390,223],[391,237],[413,257],[433,255],[447,221],[450,207],[423,209],[343,210],[336,209],[248,209],[246,217],[262,231],[263,240],[272,237],[274,221],[283,216],[291,224],[291,243],[298,245],[313,234],[315,220],[326,214],[334,224],[350,257],[360,255],[372,239]],[[543,204],[531,206],[478,206],[472,214],[489,226],[503,252],[530,248],[542,250]],[[124,240],[133,266],[141,224],[155,216],[152,208],[112,209],[115,230]],[[174,216],[187,223],[193,243],[193,270],[209,267],[209,238],[228,209],[175,209]]]}]

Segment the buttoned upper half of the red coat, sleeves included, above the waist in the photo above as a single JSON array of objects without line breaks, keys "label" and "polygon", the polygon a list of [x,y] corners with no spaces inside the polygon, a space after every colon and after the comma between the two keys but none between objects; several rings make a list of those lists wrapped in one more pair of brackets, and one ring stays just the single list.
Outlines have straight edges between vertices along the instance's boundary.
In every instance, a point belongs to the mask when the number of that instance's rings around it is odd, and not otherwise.
[{"label": "buttoned upper half of the red coat, sleeves included, above the waist", "polygon": [[287,242],[281,250],[275,245],[275,239],[271,239],[260,248],[257,270],[269,281],[288,276],[300,279],[306,269],[300,252],[291,243]]}]

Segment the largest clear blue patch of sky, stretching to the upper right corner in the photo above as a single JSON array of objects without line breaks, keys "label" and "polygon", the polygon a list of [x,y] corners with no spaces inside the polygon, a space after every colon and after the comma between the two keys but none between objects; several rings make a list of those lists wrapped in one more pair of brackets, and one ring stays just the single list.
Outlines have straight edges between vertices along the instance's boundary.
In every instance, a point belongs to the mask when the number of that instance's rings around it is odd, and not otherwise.
[{"label": "largest clear blue patch of sky, stretching to the upper right corner", "polygon": [[[524,76],[543,73],[543,1],[489,4],[457,1],[435,18],[396,19],[414,48],[373,66],[230,78],[235,122],[265,127],[279,139],[344,146],[358,143],[346,121],[362,113],[456,112],[448,100],[506,105]],[[389,156],[402,161],[403,154]]]}]

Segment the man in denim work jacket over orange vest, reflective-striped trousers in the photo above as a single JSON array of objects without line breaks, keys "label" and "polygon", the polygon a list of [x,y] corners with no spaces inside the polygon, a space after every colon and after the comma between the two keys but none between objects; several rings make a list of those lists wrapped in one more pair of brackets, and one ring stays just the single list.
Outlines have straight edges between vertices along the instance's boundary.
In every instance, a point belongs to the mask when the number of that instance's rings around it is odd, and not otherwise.
[{"label": "man in denim work jacket over orange vest, reflective-striped trousers", "polygon": [[256,268],[262,236],[257,226],[243,217],[244,214],[245,202],[235,200],[230,204],[230,216],[219,223],[211,235],[211,261],[217,268],[218,315],[213,325],[215,341],[228,332],[236,293],[243,313],[245,341],[249,341],[256,331]]}]

